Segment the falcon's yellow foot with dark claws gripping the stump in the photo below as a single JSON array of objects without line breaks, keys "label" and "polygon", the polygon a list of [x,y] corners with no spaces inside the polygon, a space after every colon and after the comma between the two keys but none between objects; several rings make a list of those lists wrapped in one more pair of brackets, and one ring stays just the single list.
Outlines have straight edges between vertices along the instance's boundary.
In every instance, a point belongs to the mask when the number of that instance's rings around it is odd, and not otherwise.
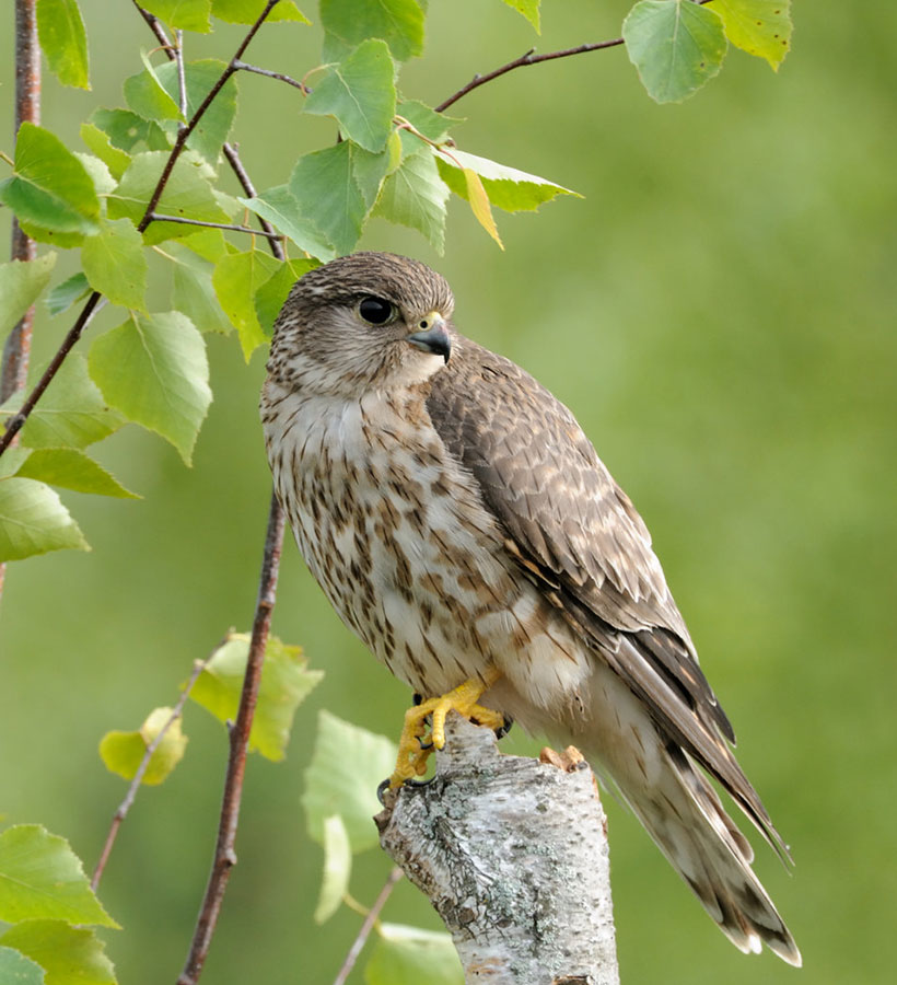
[{"label": "falcon's yellow foot with dark claws gripping the stump", "polygon": [[[389,777],[389,788],[400,787],[406,780],[415,776],[422,776],[427,772],[427,760],[434,749],[445,745],[445,716],[450,711],[457,711],[470,721],[489,729],[503,729],[506,726],[504,716],[492,708],[484,708],[477,702],[484,692],[490,688],[501,676],[499,671],[490,668],[482,676],[471,677],[464,684],[443,694],[441,697],[429,698],[421,702],[405,712],[405,727],[398,742],[398,757],[395,773]],[[430,723],[430,741],[421,740],[427,734],[428,716],[432,716]]]}]

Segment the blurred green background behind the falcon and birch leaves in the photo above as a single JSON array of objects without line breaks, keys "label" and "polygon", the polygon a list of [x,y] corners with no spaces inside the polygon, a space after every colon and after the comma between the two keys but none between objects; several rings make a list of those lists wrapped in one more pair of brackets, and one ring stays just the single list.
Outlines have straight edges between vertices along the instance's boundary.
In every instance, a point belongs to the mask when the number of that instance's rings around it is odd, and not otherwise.
[{"label": "blurred green background behind the falcon and birch leaves", "polygon": [[[426,57],[404,71],[404,92],[434,104],[536,42],[616,36],[629,5],[546,0],[536,39],[498,0],[432,0]],[[130,3],[82,8],[93,91],[48,76],[43,97],[45,125],[72,147],[94,106],[124,104],[121,80],[154,44]],[[778,76],[733,50],[682,106],[651,103],[620,48],[509,74],[454,107],[469,117],[459,146],[585,199],[500,213],[505,253],[458,201],[444,257],[382,220],[363,241],[436,266],[459,328],[579,416],[653,531],[741,760],[792,845],[793,878],[762,847],[757,868],[803,949],[802,973],[735,951],[606,798],[627,983],[894,981],[897,11],[867,13],[797,3]],[[237,36],[190,36],[188,54],[226,58]],[[301,77],[319,43],[316,28],[277,24],[247,57]],[[327,121],[300,115],[294,90],[240,84],[234,138],[257,187],[333,138]],[[160,283],[154,306],[167,304]],[[42,314],[35,361],[69,320]],[[7,576],[0,809],[67,836],[89,867],[124,793],[96,754],[102,733],[173,703],[193,660],[252,618],[269,490],[256,413],[264,357],[247,370],[220,337],[210,357],[215,399],[195,467],[125,429],[95,451],[145,499],[66,494],[93,553]],[[333,981],[359,917],[343,909],[321,929],[311,919],[322,859],[300,793],[316,710],[396,737],[409,697],[330,612],[292,543],[275,629],[327,676],[300,710],[287,762],[249,764],[240,865],[203,978],[215,985]],[[123,983],[176,978],[205,885],[225,735],[196,707],[185,728],[186,761],[141,792],[102,888],[125,927],[105,935]],[[520,730],[504,745],[537,749]],[[387,868],[376,851],[361,857],[356,895],[370,903]],[[407,884],[385,916],[438,926]]]}]

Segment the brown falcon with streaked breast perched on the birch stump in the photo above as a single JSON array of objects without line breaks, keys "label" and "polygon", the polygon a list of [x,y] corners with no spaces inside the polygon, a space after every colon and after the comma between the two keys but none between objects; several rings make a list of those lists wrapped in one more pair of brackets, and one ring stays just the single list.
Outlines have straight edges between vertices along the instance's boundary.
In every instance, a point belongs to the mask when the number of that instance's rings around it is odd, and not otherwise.
[{"label": "brown falcon with streaked breast perched on the birch stump", "polygon": [[461,335],[446,281],[385,253],[305,274],[261,417],[277,495],[346,625],[426,698],[393,785],[447,708],[580,748],[729,939],[800,951],[714,777],[787,857],[629,497],[573,415]]}]

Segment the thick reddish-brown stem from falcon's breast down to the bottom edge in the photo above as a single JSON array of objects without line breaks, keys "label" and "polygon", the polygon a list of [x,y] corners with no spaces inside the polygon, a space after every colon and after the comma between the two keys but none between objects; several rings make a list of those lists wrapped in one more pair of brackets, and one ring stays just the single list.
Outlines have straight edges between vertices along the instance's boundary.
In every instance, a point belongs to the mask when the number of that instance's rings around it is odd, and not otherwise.
[{"label": "thick reddish-brown stem from falcon's breast down to the bottom edge", "polygon": [[218,824],[214,858],[209,873],[206,894],[199,909],[190,950],[184,964],[184,971],[177,985],[195,985],[202,972],[202,965],[209,953],[212,936],[221,912],[221,901],[236,865],[234,843],[240,819],[240,801],[243,795],[243,777],[246,770],[246,751],[249,743],[249,731],[253,725],[258,684],[261,679],[261,664],[265,658],[265,645],[271,625],[271,612],[277,594],[277,576],[280,567],[280,548],[283,542],[283,510],[271,493],[271,507],[268,514],[268,531],[265,537],[265,554],[261,560],[261,576],[258,587],[258,602],[253,621],[253,636],[249,644],[249,656],[246,661],[246,676],[240,696],[240,709],[236,721],[230,730],[230,755],[228,757],[228,775],[224,780],[224,796],[221,803],[221,815]]}]

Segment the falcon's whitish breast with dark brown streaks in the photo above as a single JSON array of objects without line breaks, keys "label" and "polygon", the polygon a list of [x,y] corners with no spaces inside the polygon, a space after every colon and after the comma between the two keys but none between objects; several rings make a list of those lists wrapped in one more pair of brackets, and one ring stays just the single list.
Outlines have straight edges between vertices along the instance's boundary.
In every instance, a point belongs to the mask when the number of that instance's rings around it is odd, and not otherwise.
[{"label": "falcon's whitish breast with dark brown streaks", "polygon": [[422,399],[347,402],[269,384],[265,407],[278,496],[342,621],[426,694],[493,662],[521,587],[494,518]]}]

